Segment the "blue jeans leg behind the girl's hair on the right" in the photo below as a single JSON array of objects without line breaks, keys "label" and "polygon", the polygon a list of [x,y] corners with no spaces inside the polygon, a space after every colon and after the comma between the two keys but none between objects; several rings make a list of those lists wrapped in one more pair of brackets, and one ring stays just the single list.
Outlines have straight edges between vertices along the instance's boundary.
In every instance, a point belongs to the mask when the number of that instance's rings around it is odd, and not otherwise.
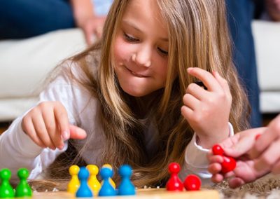
[{"label": "blue jeans leg behind the girl's hair on the right", "polygon": [[228,22],[234,47],[234,62],[239,78],[244,84],[252,112],[250,123],[253,128],[262,125],[259,109],[259,88],[251,21],[254,2],[251,0],[226,0]]}]

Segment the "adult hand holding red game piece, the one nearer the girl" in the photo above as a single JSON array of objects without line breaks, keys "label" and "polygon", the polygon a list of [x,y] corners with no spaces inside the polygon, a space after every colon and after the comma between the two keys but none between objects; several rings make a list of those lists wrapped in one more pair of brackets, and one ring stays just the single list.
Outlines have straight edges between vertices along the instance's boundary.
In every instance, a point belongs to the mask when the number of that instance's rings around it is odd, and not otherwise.
[{"label": "adult hand holding red game piece, the one nearer the girl", "polygon": [[223,179],[230,177],[228,181],[229,186],[231,188],[236,188],[237,186],[254,181],[255,179],[267,174],[269,172],[269,168],[262,167],[261,170],[256,170],[256,161],[248,156],[248,151],[250,151],[255,144],[256,135],[262,134],[265,130],[266,128],[245,130],[221,142],[220,145],[225,151],[225,155],[231,156],[237,160],[235,170],[226,174],[221,172],[221,163],[223,163],[222,156],[215,156],[211,151],[208,156],[208,170],[211,174],[213,174],[211,180],[214,183],[219,183],[223,181]]}]

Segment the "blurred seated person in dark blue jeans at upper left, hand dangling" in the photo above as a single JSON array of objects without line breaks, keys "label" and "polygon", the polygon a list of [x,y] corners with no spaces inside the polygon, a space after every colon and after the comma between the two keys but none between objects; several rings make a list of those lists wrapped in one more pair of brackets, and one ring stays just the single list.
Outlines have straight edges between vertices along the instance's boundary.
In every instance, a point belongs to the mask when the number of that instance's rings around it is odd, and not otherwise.
[{"label": "blurred seated person in dark blue jeans at upper left, hand dangling", "polygon": [[80,27],[87,44],[101,36],[113,0],[1,1],[0,39],[25,39],[57,29]]}]

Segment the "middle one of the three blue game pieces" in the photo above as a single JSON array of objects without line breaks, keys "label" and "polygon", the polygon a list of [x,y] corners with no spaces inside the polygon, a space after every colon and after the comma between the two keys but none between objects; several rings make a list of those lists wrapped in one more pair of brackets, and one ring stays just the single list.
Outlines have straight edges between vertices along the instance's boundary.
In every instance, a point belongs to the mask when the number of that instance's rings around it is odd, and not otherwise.
[{"label": "middle one of the three blue game pieces", "polygon": [[102,187],[99,190],[99,196],[113,196],[116,195],[116,190],[111,185],[109,178],[113,176],[113,170],[108,167],[103,167],[100,171],[100,175],[103,179]]}]

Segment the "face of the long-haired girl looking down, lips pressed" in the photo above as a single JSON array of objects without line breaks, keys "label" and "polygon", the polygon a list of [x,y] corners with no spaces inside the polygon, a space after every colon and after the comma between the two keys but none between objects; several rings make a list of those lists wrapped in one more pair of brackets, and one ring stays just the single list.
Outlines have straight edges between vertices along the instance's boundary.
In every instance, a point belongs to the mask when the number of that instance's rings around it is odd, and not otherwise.
[{"label": "face of the long-haired girl looking down, lips pressed", "polygon": [[165,87],[168,46],[167,27],[156,1],[131,0],[113,47],[121,88],[143,97]]}]

